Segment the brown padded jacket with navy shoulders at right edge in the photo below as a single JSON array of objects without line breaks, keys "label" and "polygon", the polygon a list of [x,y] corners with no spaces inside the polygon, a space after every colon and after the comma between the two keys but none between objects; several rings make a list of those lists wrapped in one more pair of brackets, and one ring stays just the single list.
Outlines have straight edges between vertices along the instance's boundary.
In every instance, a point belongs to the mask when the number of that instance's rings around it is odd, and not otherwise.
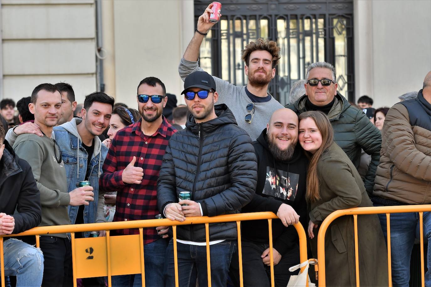
[{"label": "brown padded jacket with navy shoulders at right edge", "polygon": [[422,90],[416,99],[397,103],[387,112],[380,155],[375,196],[431,204],[431,105]]}]

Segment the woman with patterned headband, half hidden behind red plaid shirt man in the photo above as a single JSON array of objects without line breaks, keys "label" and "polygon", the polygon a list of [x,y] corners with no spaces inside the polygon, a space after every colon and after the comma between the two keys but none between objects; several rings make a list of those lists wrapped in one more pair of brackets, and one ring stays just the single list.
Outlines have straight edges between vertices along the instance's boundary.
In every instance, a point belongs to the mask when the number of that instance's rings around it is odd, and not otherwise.
[{"label": "woman with patterned headband, half hidden behind red plaid shirt man", "polygon": [[[105,139],[103,144],[108,148],[111,145],[111,141],[119,130],[134,124],[141,119],[141,114],[133,108],[124,108],[119,105],[114,105],[112,110],[112,116],[109,120],[109,139]],[[109,191],[104,194],[105,204],[103,206],[103,214],[107,222],[112,222],[115,214],[115,201],[117,191]]]}]

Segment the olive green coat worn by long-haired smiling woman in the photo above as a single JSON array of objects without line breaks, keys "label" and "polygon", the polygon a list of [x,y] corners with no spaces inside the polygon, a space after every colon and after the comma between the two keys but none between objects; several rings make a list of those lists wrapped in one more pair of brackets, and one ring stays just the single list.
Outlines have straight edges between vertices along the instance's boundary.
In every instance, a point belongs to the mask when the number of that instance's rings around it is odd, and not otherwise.
[{"label": "olive green coat worn by long-haired smiling woman", "polygon": [[[309,204],[315,224],[335,210],[372,206],[358,171],[335,142],[320,157],[317,173],[321,199]],[[314,256],[317,232],[311,240]],[[358,216],[358,245],[360,286],[388,286],[387,247],[377,215]],[[329,225],[325,256],[326,286],[356,286],[353,216],[341,216]]]}]

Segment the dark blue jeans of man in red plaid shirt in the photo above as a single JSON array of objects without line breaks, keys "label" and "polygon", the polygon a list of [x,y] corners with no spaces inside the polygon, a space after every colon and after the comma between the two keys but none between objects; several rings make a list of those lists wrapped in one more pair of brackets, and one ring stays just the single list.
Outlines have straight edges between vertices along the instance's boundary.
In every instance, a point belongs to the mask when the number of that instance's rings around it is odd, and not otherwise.
[{"label": "dark blue jeans of man in red plaid shirt", "polygon": [[[163,286],[163,268],[167,246],[166,239],[159,239],[144,245],[145,287]],[[142,275],[112,276],[112,286],[142,286]]]}]

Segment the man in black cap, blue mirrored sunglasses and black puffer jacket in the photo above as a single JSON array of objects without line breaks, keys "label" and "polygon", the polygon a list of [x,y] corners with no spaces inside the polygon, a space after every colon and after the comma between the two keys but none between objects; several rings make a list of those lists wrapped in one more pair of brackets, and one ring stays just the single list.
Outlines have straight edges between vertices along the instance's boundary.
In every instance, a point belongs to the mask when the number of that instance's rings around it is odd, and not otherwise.
[{"label": "man in black cap, blue mirrored sunglasses and black puffer jacket", "polygon": [[[166,148],[157,182],[159,210],[178,221],[239,213],[256,188],[256,155],[250,136],[237,126],[226,105],[214,106],[218,94],[208,73],[187,76],[181,94],[191,116],[186,129],[172,135]],[[178,202],[181,191],[189,191],[191,200]],[[178,226],[177,238],[179,286],[195,286],[197,279],[200,286],[206,286],[205,225]],[[226,286],[236,239],[235,222],[209,224],[212,286]],[[166,254],[166,286],[175,286],[172,240]]]}]

